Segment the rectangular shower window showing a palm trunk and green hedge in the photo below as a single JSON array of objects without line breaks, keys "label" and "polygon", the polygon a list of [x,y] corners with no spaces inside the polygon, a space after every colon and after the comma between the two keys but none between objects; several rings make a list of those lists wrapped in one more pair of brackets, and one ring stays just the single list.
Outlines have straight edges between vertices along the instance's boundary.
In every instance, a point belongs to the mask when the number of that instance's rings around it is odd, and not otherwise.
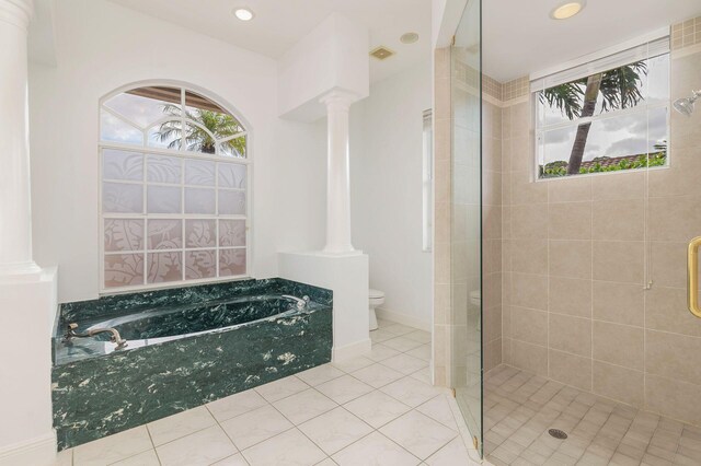
[{"label": "rectangular shower window showing a palm trunk and green hedge", "polygon": [[668,163],[669,38],[531,83],[538,178]]}]

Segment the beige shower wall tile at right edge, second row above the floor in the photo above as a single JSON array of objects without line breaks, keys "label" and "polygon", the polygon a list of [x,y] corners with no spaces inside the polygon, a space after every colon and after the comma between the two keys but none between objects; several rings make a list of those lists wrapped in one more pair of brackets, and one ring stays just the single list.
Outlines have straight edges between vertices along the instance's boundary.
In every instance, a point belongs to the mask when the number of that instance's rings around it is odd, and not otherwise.
[{"label": "beige shower wall tile at right edge, second row above the floor", "polygon": [[651,374],[701,384],[701,338],[647,330],[645,370]]}]

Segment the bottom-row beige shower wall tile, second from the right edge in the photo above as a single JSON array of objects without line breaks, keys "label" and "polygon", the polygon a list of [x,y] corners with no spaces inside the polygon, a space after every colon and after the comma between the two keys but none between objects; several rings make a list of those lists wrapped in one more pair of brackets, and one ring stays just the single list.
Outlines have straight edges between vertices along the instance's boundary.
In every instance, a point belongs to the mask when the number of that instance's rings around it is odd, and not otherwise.
[{"label": "bottom-row beige shower wall tile, second from the right edge", "polygon": [[594,361],[594,393],[625,404],[643,407],[645,395],[644,374],[619,365]]}]

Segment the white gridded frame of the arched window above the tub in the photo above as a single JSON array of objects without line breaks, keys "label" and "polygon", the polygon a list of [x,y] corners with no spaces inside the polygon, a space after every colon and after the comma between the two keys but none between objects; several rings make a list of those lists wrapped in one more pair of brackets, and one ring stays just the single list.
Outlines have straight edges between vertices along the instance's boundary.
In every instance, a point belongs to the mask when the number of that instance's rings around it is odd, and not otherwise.
[{"label": "white gridded frame of the arched window above the tub", "polygon": [[[229,113],[233,116],[241,125],[243,131],[233,135],[231,137],[223,138],[221,140],[217,140],[216,149],[214,154],[208,154],[204,152],[196,152],[183,149],[185,144],[181,144],[180,149],[166,149],[166,148],[154,148],[148,145],[148,132],[154,126],[168,120],[180,120],[182,127],[185,128],[185,121],[189,124],[198,125],[196,121],[193,121],[181,115],[177,117],[163,117],[159,118],[154,121],[148,124],[148,126],[143,127],[135,121],[129,120],[125,116],[107,108],[104,104],[111,98],[123,94],[129,90],[146,88],[146,86],[169,86],[169,88],[179,88],[181,91],[181,102],[180,106],[184,108],[185,105],[185,94],[186,92],[193,92],[198,95],[202,95],[218,106],[220,106],[225,112]],[[238,112],[232,112],[231,106],[227,104],[221,104],[222,100],[216,96],[212,96],[210,92],[204,91],[197,86],[194,86],[188,83],[174,82],[174,81],[143,81],[138,83],[128,84],[122,86],[106,95],[104,95],[100,102],[97,107],[97,167],[99,167],[99,196],[97,196],[97,231],[99,231],[99,249],[100,249],[100,258],[99,258],[99,277],[100,277],[100,295],[110,295],[110,294],[122,294],[129,292],[139,292],[139,291],[149,291],[149,290],[160,290],[168,288],[180,288],[186,286],[196,286],[196,284],[206,284],[206,283],[217,283],[225,281],[237,281],[237,280],[246,280],[253,277],[253,247],[252,247],[252,209],[253,209],[253,150],[252,150],[252,131],[251,125],[242,118]],[[127,123],[134,128],[140,130],[143,133],[143,138],[141,144],[130,144],[124,142],[112,142],[104,141],[102,139],[102,112],[107,110],[113,117],[118,118],[119,120]],[[206,130],[206,128],[203,128]],[[209,132],[209,131],[208,131]],[[219,143],[237,139],[240,137],[245,137],[245,158],[234,158],[219,153]],[[184,138],[184,131],[181,135],[181,138]],[[128,179],[112,179],[104,177],[104,158],[103,152],[105,150],[117,150],[117,151],[126,151],[133,153],[139,153],[142,155],[142,178],[140,180],[128,180]],[[171,156],[180,160],[181,164],[181,173],[180,173],[180,183],[177,184],[164,184],[164,183],[151,183],[148,182],[148,172],[147,172],[147,161],[149,155],[157,156]],[[215,185],[214,186],[199,186],[199,185],[189,185],[185,183],[185,161],[186,160],[197,160],[197,161],[209,161],[215,162]],[[231,191],[243,191],[245,193],[245,214],[219,214],[219,175],[218,175],[218,162],[229,163],[229,164],[239,164],[245,166],[245,189],[238,188],[223,188],[223,190]],[[105,212],[103,208],[103,185],[104,183],[120,183],[120,184],[133,184],[140,185],[142,187],[142,210],[141,212]],[[149,186],[171,186],[177,187],[181,189],[181,213],[148,213],[148,187]],[[185,213],[185,189],[186,188],[205,188],[212,189],[215,193],[215,213]],[[107,252],[105,251],[105,220],[110,219],[124,219],[124,220],[139,220],[143,221],[143,247],[138,252],[134,253],[119,253],[119,252]],[[216,238],[215,245],[211,247],[186,247],[185,240],[185,223],[186,220],[214,220],[216,228]],[[148,247],[148,221],[149,220],[180,220],[182,222],[182,245],[179,248],[172,249],[152,249]],[[233,247],[221,247],[219,245],[219,220],[243,220],[245,222],[245,246],[233,246]],[[244,249],[245,251],[245,273],[239,276],[226,276],[219,277],[219,257],[220,252],[225,249]],[[186,279],[186,259],[185,254],[188,251],[214,251],[215,252],[215,277],[208,278],[199,278],[199,279]],[[148,256],[153,253],[177,253],[181,255],[181,269],[182,269],[182,278],[181,280],[173,280],[166,282],[158,282],[158,283],[148,283]],[[143,260],[143,283],[141,284],[130,284],[126,287],[105,287],[105,258],[108,255],[119,255],[119,254],[140,254],[142,255]]]}]

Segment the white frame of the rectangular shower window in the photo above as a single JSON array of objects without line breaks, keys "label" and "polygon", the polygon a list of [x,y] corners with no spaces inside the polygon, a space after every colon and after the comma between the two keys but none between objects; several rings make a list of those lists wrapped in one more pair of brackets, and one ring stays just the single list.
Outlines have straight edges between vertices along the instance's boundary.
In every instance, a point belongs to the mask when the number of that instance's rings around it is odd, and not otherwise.
[{"label": "white frame of the rectangular shower window", "polygon": [[[662,55],[667,55],[669,57],[669,66],[667,67],[667,75],[668,78],[671,78],[671,51],[666,51],[664,54],[659,54],[656,55],[655,57],[659,57]],[[646,59],[650,58],[654,58],[654,57],[647,57]],[[596,61],[596,60],[595,60]],[[594,61],[593,61],[594,62]],[[630,62],[628,63],[623,63],[620,65],[619,67],[622,66],[627,66],[630,65]],[[617,67],[618,68],[618,67]],[[579,77],[579,79],[584,79],[584,78],[588,78],[589,74],[587,75],[583,75]],[[671,79],[668,80],[669,82],[669,91],[671,91]],[[532,176],[533,179],[536,180],[536,183],[539,182],[550,182],[553,179],[573,179],[573,178],[578,178],[578,177],[583,177],[583,176],[599,176],[599,175],[613,175],[613,174],[624,174],[624,173],[636,173],[640,172],[642,168],[629,168],[629,170],[619,170],[619,171],[610,171],[610,172],[594,172],[594,173],[577,173],[575,175],[566,175],[566,176],[539,176],[539,168],[540,168],[540,147],[541,147],[541,139],[543,137],[543,135],[548,131],[553,131],[553,130],[558,130],[558,129],[563,129],[563,128],[577,128],[579,125],[583,124],[587,124],[587,123],[591,123],[594,124],[595,121],[602,121],[606,119],[610,119],[610,118],[619,118],[619,117],[625,117],[625,116],[630,116],[630,115],[637,115],[637,114],[648,114],[652,110],[656,110],[656,109],[660,109],[660,108],[665,108],[665,114],[666,114],[666,127],[667,127],[667,152],[666,152],[666,156],[665,156],[665,164],[664,165],[659,165],[659,166],[647,166],[645,167],[646,171],[650,170],[666,170],[670,167],[670,161],[671,161],[671,143],[670,143],[670,131],[671,131],[671,94],[669,94],[669,98],[667,101],[664,102],[657,102],[657,103],[643,103],[643,104],[639,104],[635,105],[634,107],[631,108],[621,108],[621,109],[616,109],[616,110],[610,110],[610,112],[606,112],[606,113],[599,113],[596,115],[593,115],[590,117],[584,117],[584,118],[578,118],[578,119],[574,119],[574,120],[563,120],[560,123],[555,123],[555,124],[551,124],[551,125],[545,125],[545,126],[540,126],[539,124],[539,119],[538,119],[538,105],[540,103],[539,100],[539,93],[544,91],[545,89],[550,89],[550,88],[544,88],[544,89],[540,89],[540,90],[536,90],[529,93],[529,98],[531,100],[531,118],[533,121],[532,128],[533,128],[533,140],[532,140],[532,148],[533,148],[533,156],[532,156],[532,162],[533,162],[533,166],[532,166]],[[648,120],[648,118],[646,118]],[[544,161],[543,161],[543,166],[544,166]]]}]

